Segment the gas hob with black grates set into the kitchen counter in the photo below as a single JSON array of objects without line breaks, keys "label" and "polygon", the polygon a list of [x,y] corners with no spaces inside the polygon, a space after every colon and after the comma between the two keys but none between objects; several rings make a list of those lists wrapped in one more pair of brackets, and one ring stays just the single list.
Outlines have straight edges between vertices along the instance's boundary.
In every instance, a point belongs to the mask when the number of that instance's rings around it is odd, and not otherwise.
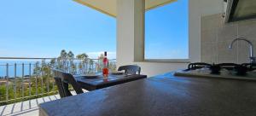
[{"label": "gas hob with black grates set into the kitchen counter", "polygon": [[177,71],[175,76],[198,78],[231,78],[256,81],[256,64],[253,63],[190,63],[185,70]]}]

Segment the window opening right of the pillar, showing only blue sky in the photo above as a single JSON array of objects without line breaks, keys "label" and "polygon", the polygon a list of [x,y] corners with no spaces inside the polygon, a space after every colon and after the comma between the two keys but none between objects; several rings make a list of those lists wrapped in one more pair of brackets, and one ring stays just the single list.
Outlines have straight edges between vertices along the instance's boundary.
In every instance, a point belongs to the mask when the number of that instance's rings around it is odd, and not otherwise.
[{"label": "window opening right of the pillar, showing only blue sky", "polygon": [[189,59],[189,0],[145,14],[145,60]]}]

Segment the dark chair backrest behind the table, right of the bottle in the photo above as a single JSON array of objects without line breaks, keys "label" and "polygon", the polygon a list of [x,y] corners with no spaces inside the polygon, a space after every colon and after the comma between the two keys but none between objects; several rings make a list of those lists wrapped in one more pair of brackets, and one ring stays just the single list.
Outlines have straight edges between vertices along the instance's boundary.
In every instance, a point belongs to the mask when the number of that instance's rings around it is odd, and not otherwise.
[{"label": "dark chair backrest behind the table, right of the bottle", "polygon": [[127,66],[121,66],[119,67],[118,71],[125,70],[126,74],[140,74],[141,73],[141,67],[136,65],[127,65]]}]

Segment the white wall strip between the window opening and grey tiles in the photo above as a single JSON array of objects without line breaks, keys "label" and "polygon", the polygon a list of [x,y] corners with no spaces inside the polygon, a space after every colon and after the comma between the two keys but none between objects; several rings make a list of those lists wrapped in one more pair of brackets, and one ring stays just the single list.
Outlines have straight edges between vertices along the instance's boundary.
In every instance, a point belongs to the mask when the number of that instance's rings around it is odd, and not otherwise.
[{"label": "white wall strip between the window opening and grey tiles", "polygon": [[223,0],[189,0],[189,58],[201,61],[201,17],[224,11]]}]

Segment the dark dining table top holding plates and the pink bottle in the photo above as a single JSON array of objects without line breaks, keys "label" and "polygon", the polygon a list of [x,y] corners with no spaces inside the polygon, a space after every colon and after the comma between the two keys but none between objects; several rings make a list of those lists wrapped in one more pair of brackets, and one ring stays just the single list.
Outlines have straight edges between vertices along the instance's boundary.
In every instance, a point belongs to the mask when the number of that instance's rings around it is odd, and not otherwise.
[{"label": "dark dining table top holding plates and the pink bottle", "polygon": [[133,75],[109,75],[108,78],[103,78],[103,76],[99,76],[97,78],[84,78],[84,76],[76,75],[74,76],[77,82],[81,85],[85,90],[97,90],[106,88],[109,86],[124,84],[130,81],[134,81],[137,79],[147,78],[147,75],[141,74],[133,74]]}]

